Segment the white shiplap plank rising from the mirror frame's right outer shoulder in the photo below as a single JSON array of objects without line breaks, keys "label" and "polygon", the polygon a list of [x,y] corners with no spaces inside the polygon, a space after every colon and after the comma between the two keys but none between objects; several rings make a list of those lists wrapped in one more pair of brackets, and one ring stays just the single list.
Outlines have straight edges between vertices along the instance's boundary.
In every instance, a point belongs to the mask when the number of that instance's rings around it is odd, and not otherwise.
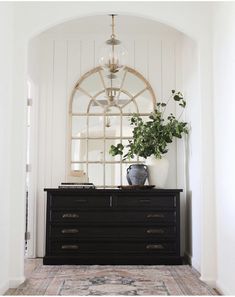
[{"label": "white shiplap plank rising from the mirror frame's right outer shoulder", "polygon": [[149,40],[149,82],[153,88],[157,102],[162,100],[162,52],[161,40]]}]

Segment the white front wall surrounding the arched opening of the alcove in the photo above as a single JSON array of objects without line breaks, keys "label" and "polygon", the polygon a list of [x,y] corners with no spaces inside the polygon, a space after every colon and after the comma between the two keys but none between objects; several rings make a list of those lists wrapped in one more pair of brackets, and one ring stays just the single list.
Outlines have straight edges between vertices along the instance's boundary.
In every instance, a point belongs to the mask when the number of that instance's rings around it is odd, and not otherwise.
[{"label": "white front wall surrounding the arched opening of the alcove", "polygon": [[[3,5],[1,3],[1,5]],[[10,214],[12,218],[11,243],[11,265],[10,271],[14,277],[23,276],[23,245],[24,245],[24,205],[25,205],[25,151],[26,151],[26,98],[27,98],[27,47],[30,38],[41,33],[45,29],[66,20],[84,17],[87,15],[108,14],[117,12],[119,14],[130,14],[161,21],[165,24],[182,31],[193,38],[198,44],[199,54],[199,88],[198,100],[204,104],[204,110],[198,117],[202,123],[202,137],[206,146],[201,147],[204,157],[202,165],[202,208],[201,224],[205,232],[200,234],[203,248],[201,250],[201,263],[205,262],[201,269],[203,279],[215,279],[214,242],[211,235],[214,233],[213,221],[207,220],[208,213],[211,214],[214,193],[211,189],[213,175],[208,174],[208,168],[213,168],[211,154],[213,155],[213,141],[211,139],[212,114],[211,114],[211,40],[210,40],[210,11],[211,4],[196,2],[18,2],[15,7],[15,43],[14,43],[14,89],[11,116],[12,122],[12,149],[9,148],[12,158]],[[27,16],[27,17],[26,17]],[[2,27],[5,29],[5,26]],[[206,104],[205,104],[206,103]],[[17,148],[17,154],[15,149]],[[8,164],[9,165],[9,164]],[[209,172],[210,173],[210,172]],[[209,187],[207,186],[209,182]],[[11,185],[9,182],[9,186]],[[194,239],[195,242],[196,239]],[[2,257],[7,255],[5,252]],[[209,255],[209,257],[208,257]],[[207,261],[205,260],[207,259]]]}]

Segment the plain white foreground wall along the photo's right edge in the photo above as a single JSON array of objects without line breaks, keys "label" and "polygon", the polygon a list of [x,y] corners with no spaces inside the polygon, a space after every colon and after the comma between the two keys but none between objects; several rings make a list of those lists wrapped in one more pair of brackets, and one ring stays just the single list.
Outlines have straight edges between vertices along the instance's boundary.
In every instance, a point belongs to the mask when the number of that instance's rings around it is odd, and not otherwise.
[{"label": "plain white foreground wall along the photo's right edge", "polygon": [[235,295],[235,3],[214,6],[217,285]]}]

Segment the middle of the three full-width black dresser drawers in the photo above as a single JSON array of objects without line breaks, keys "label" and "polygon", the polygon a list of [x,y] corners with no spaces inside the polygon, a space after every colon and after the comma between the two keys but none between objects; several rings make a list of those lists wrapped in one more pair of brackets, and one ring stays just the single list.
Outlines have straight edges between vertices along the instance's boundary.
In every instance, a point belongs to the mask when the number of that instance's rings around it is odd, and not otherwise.
[{"label": "middle of the three full-width black dresser drawers", "polygon": [[53,238],[163,238],[176,236],[174,226],[151,227],[83,227],[78,225],[51,226]]}]

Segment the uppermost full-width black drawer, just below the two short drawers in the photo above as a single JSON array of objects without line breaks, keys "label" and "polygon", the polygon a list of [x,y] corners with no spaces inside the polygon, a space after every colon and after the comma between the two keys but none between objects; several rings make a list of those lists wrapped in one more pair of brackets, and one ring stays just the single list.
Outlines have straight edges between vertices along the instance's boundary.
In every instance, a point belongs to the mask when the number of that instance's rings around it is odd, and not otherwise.
[{"label": "uppermost full-width black drawer, just below the two short drawers", "polygon": [[126,224],[126,223],[164,223],[175,222],[176,212],[172,211],[139,211],[139,212],[125,212],[125,211],[52,211],[50,213],[51,222],[66,222],[66,223],[89,223],[89,224]]}]

